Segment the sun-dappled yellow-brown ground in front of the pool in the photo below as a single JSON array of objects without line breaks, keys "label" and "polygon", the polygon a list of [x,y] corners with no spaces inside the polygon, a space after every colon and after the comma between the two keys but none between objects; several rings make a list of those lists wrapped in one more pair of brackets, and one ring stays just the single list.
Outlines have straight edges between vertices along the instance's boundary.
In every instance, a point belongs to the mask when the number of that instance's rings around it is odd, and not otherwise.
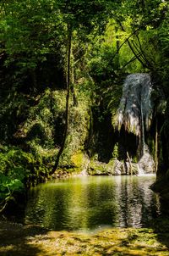
[{"label": "sun-dappled yellow-brown ground in front of the pool", "polygon": [[83,234],[0,222],[0,255],[169,255],[169,231],[112,228]]}]

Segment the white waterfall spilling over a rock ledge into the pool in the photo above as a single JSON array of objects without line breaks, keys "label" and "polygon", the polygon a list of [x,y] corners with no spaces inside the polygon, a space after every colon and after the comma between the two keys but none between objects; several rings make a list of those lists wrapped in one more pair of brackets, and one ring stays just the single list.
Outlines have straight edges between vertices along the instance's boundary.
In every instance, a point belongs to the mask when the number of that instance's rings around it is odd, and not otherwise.
[{"label": "white waterfall spilling over a rock ledge into the pool", "polygon": [[138,174],[152,173],[154,160],[145,143],[145,131],[150,128],[152,108],[150,103],[151,81],[149,74],[128,75],[123,84],[123,95],[117,110],[117,129],[122,125],[125,131],[139,138],[137,164]]}]

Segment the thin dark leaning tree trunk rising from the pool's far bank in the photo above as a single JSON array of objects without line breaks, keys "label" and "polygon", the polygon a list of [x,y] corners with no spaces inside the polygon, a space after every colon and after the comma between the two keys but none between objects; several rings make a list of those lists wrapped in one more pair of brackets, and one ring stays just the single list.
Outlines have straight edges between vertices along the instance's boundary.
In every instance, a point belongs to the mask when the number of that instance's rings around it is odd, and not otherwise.
[{"label": "thin dark leaning tree trunk rising from the pool's far bank", "polygon": [[61,144],[61,147],[59,148],[59,151],[57,153],[57,159],[55,161],[55,164],[52,168],[51,175],[57,170],[57,166],[59,163],[59,159],[63,153],[63,149],[65,146],[65,142],[68,135],[68,116],[69,116],[69,97],[70,97],[70,58],[71,58],[71,46],[72,46],[72,28],[69,27],[68,29],[68,67],[67,67],[67,97],[66,97],[66,110],[65,110],[65,129],[63,133],[63,142]]}]

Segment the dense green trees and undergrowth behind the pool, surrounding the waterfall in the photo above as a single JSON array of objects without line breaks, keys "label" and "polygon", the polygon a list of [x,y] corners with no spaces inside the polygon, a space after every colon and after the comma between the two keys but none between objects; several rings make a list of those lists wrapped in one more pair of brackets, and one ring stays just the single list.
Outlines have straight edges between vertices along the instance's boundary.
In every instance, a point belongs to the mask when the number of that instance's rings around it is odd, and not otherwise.
[{"label": "dense green trees and undergrowth behind the pool, surrounding the waterfall", "polygon": [[145,142],[168,179],[168,30],[165,0],[1,1],[0,211],[53,173],[139,161],[137,138],[114,123],[133,73],[151,77]]}]

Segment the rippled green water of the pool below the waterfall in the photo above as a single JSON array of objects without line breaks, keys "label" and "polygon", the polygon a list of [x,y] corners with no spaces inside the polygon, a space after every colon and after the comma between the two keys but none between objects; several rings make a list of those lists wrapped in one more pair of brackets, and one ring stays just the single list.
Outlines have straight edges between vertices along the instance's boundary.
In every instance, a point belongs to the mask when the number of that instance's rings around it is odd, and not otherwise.
[{"label": "rippled green water of the pool below the waterfall", "polygon": [[160,213],[154,181],[155,175],[90,176],[43,184],[30,190],[25,223],[56,231],[149,226]]}]

